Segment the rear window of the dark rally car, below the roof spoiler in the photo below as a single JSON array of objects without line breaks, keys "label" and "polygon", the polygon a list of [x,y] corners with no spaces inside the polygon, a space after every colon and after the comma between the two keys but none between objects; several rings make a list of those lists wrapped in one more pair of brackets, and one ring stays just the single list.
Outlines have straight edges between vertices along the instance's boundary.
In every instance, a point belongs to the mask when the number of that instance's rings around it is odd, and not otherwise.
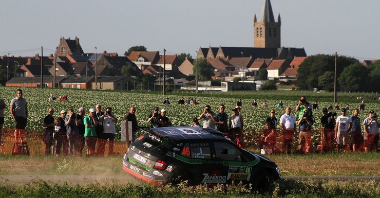
[{"label": "rear window of the dark rally car, below the roof spoiler", "polygon": [[145,149],[165,155],[170,149],[173,148],[172,144],[168,140],[159,138],[158,136],[150,133],[145,133],[135,140],[135,143]]}]

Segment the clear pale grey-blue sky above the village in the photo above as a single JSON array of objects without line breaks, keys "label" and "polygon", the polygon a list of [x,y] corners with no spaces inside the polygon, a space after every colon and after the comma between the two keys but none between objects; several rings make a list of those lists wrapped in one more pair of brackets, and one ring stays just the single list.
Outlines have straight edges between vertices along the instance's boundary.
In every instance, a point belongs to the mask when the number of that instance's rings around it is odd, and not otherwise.
[{"label": "clear pale grey-blue sky above the village", "polygon": [[[281,15],[281,45],[318,53],[380,59],[380,1],[272,0]],[[0,56],[54,53],[61,37],[77,36],[85,53],[190,53],[199,47],[253,47],[253,17],[263,0],[3,1]],[[24,50],[24,51],[21,51]]]}]

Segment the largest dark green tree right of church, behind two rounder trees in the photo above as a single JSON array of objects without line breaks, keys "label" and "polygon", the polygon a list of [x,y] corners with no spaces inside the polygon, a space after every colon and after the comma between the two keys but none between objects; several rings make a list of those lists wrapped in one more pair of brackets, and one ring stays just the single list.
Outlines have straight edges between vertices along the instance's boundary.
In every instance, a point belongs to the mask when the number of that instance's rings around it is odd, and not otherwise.
[{"label": "largest dark green tree right of church, behind two rounder trees", "polygon": [[[348,57],[337,57],[336,76],[339,76],[343,69],[358,60]],[[315,55],[306,58],[298,67],[297,86],[301,90],[311,90],[321,88],[318,86],[318,78],[326,71],[334,71],[335,56]]]}]

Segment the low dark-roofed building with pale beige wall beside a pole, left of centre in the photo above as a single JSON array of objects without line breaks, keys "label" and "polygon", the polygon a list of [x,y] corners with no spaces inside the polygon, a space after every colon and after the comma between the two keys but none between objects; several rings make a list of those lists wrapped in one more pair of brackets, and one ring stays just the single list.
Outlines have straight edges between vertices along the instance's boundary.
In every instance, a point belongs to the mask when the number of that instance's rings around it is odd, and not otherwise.
[{"label": "low dark-roofed building with pale beige wall beside a pole, left of centre", "polygon": [[[97,79],[98,89],[110,89],[110,90],[130,90],[133,87],[135,79],[130,77],[104,77]],[[96,88],[95,82],[91,83],[92,89]]]}]

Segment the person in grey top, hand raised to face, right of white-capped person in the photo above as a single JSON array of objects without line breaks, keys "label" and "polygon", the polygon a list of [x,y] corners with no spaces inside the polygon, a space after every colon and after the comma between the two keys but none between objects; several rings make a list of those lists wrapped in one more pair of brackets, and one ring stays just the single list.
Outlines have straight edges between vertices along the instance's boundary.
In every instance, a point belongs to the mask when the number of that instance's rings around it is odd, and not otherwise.
[{"label": "person in grey top, hand raised to face, right of white-capped person", "polygon": [[[68,109],[67,114],[68,116],[65,118],[67,129],[66,135],[69,145],[69,155],[72,156],[73,154],[77,154],[79,150],[79,130],[75,120],[76,114],[74,113],[74,111],[72,109]],[[74,150],[74,152],[72,152],[72,150]]]}]

